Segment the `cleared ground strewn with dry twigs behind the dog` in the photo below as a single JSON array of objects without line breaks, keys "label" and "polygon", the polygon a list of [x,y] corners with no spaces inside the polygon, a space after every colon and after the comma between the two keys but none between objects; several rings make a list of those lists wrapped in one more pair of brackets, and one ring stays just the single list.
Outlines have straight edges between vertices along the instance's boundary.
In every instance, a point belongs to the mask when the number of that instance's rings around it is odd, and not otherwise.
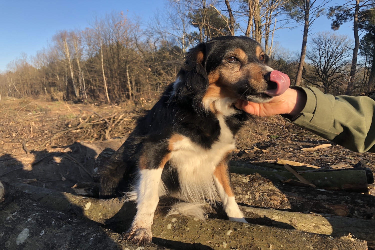
[{"label": "cleared ground strewn with dry twigs behind the dog", "polygon": [[[116,150],[151,103],[68,104],[33,99],[0,101],[0,180],[27,183],[74,193],[74,184],[93,181],[98,150]],[[103,141],[111,140],[103,143]],[[241,130],[233,160],[249,163],[276,158],[315,166],[367,160],[375,172],[373,153],[355,153],[303,130],[281,117],[254,118]],[[107,144],[106,144],[107,143]],[[315,151],[303,148],[321,144]],[[370,185],[375,195],[375,185]],[[373,190],[373,191],[372,191]]]}]

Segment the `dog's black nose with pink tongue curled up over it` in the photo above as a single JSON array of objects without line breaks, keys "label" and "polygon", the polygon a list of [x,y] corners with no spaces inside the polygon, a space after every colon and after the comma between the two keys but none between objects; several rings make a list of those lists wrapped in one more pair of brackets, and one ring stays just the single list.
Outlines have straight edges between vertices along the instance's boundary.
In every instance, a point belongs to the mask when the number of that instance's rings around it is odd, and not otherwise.
[{"label": "dog's black nose with pink tongue curled up over it", "polygon": [[283,94],[290,86],[289,76],[278,71],[273,70],[264,76],[267,81],[267,90],[264,92],[269,96],[279,96]]}]

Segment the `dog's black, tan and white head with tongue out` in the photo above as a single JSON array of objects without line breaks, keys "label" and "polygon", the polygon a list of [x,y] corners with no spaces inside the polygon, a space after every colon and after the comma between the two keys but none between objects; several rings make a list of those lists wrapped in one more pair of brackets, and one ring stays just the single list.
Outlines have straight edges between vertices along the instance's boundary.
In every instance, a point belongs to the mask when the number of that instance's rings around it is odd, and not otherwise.
[{"label": "dog's black, tan and white head with tongue out", "polygon": [[273,70],[269,56],[249,37],[222,36],[201,43],[190,49],[185,63],[176,85],[213,112],[237,99],[268,102],[290,85],[288,76]]}]

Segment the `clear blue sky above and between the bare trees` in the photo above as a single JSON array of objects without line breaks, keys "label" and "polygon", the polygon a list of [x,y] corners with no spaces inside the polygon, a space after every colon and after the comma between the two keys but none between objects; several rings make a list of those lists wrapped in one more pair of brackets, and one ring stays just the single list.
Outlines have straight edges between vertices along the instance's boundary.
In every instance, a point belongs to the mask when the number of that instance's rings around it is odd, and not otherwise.
[{"label": "clear blue sky above and between the bare trees", "polygon": [[[157,9],[164,6],[164,0],[0,0],[0,72],[22,52],[35,55],[36,51],[46,47],[56,31],[88,27],[95,15],[128,11],[129,17],[136,15],[148,22]],[[339,33],[353,37],[348,26],[349,23],[344,24]],[[313,27],[313,32],[330,30],[330,21],[322,16]],[[302,30],[303,27],[280,30],[275,40],[290,51],[299,51]]]}]

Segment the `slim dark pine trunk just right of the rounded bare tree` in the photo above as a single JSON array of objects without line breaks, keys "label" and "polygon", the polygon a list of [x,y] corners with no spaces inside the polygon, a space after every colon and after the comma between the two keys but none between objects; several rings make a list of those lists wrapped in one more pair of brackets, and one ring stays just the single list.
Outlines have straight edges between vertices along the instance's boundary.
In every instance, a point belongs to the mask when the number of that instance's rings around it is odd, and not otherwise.
[{"label": "slim dark pine trunk just right of the rounded bare tree", "polygon": [[358,36],[358,12],[359,12],[359,0],[356,0],[356,9],[354,10],[354,18],[353,18],[353,30],[354,30],[354,49],[353,49],[353,58],[352,64],[350,69],[350,78],[347,88],[347,95],[353,94],[354,88],[354,78],[356,76],[357,71],[357,55],[359,49],[359,36]]}]

